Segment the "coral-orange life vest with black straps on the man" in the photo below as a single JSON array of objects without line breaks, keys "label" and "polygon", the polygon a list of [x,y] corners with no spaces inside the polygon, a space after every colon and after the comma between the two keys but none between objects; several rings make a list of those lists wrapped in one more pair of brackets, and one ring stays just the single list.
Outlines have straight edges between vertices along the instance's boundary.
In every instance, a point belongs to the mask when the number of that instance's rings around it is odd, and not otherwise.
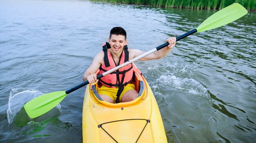
[{"label": "coral-orange life vest with black straps on the man", "polygon": [[[108,42],[103,44],[103,52],[104,52],[104,64],[100,66],[99,74],[102,74],[103,72],[106,72],[114,67],[117,67],[118,65],[121,65],[122,63],[125,63],[129,60],[129,52],[127,45],[124,46],[124,50],[121,54],[121,57],[119,59],[119,64],[116,65],[114,58],[111,56],[110,52],[108,52],[108,48],[110,48],[110,45]],[[99,79],[99,81],[106,85],[107,87],[124,87],[128,83],[132,81],[132,64],[126,65],[124,67],[121,67],[115,72],[112,72],[111,74],[108,74],[106,76],[103,76]],[[117,82],[119,81],[119,84]]]}]

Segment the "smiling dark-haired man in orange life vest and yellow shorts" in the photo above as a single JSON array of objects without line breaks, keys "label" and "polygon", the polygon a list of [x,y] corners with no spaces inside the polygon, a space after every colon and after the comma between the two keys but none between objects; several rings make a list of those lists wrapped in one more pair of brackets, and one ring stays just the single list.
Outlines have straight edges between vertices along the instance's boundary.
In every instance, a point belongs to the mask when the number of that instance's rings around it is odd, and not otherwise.
[{"label": "smiling dark-haired man in orange life vest and yellow shorts", "polygon": [[[145,52],[138,49],[128,49],[126,40],[126,31],[121,27],[114,27],[110,30],[108,43],[103,46],[103,51],[99,52],[93,59],[92,65],[83,74],[83,81],[88,80],[89,83],[98,82],[97,72],[100,74],[112,69],[132,58],[135,58]],[[175,46],[176,38],[169,37],[166,39],[169,45],[156,51],[140,61],[158,59],[164,57]],[[137,98],[138,92],[133,84],[129,84],[132,78],[132,64],[126,65],[121,69],[102,77],[99,81],[101,87],[98,88],[100,97],[110,103],[129,102]]]}]

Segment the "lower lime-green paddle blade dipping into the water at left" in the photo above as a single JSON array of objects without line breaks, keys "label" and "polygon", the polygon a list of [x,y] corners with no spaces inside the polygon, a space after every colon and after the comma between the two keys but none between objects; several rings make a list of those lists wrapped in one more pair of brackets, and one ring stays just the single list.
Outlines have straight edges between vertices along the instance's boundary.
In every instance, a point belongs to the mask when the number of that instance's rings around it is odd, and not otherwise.
[{"label": "lower lime-green paddle blade dipping into the water at left", "polygon": [[30,118],[35,118],[50,111],[67,96],[66,91],[56,91],[41,95],[24,105]]}]

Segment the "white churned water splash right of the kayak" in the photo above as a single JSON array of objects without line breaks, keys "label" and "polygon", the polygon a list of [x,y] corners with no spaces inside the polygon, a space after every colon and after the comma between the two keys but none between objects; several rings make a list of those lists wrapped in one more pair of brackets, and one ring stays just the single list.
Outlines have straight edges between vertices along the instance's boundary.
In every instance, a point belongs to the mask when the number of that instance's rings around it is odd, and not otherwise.
[{"label": "white churned water splash right of the kayak", "polygon": [[198,72],[195,66],[166,63],[149,67],[147,75],[150,79],[155,79],[152,81],[152,90],[160,96],[164,96],[169,91],[181,91],[198,99],[211,101],[207,88],[196,80]]}]

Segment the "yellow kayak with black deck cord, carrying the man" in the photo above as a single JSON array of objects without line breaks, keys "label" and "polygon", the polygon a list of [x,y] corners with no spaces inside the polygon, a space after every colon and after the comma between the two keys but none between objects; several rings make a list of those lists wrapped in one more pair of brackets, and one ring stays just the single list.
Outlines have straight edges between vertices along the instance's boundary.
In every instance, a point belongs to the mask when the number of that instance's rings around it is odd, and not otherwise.
[{"label": "yellow kayak with black deck cord, carrying the man", "polygon": [[[132,63],[133,64],[133,63]],[[130,102],[109,103],[88,85],[83,101],[84,143],[167,143],[162,117],[148,82],[133,64],[138,97]]]}]

